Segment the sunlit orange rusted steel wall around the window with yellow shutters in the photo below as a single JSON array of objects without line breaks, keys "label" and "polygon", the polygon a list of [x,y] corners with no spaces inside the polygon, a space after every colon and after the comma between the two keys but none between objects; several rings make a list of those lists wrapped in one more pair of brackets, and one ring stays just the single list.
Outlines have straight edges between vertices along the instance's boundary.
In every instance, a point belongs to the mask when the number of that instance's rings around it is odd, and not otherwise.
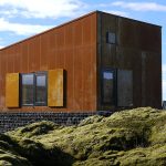
[{"label": "sunlit orange rusted steel wall around the window with yellow shutters", "polygon": [[0,50],[0,110],[7,110],[6,74],[64,69],[65,107],[21,107],[18,111],[96,110],[96,12]]}]

